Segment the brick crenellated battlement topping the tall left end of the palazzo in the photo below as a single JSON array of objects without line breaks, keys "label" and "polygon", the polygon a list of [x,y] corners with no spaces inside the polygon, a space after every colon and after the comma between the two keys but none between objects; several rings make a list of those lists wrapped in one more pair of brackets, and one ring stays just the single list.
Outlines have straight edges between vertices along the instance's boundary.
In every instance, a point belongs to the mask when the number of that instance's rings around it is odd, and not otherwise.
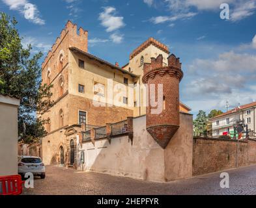
[{"label": "brick crenellated battlement topping the tall left end of the palazzo", "polygon": [[63,42],[64,38],[67,39],[69,47],[78,47],[82,51],[87,52],[88,31],[85,31],[82,27],[79,27],[79,30],[78,30],[78,26],[72,23],[72,21],[68,20],[64,29],[61,31],[60,36],[57,37],[57,39],[55,40],[55,43],[51,46],[51,50],[48,51],[48,55],[46,56],[46,58],[44,59],[44,62],[42,63],[42,69],[44,69],[48,61],[51,59],[53,53],[55,53],[55,51],[57,50],[61,42]]}]

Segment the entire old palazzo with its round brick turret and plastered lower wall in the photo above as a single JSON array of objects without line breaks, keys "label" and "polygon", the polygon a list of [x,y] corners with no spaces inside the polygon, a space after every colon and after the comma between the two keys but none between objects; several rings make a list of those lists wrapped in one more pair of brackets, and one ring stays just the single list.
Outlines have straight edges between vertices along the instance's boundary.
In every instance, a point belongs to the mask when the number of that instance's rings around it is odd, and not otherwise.
[{"label": "entire old palazzo with its round brick turret and plastered lower wall", "polygon": [[[192,142],[192,138],[191,141],[186,139],[192,136],[192,116],[188,114],[191,109],[179,102],[178,83],[183,76],[179,59],[175,55],[169,56],[166,45],[149,38],[132,52],[128,64],[121,68],[118,63],[111,64],[88,53],[87,38],[87,31],[82,28],[78,30],[77,25],[68,21],[42,64],[42,83],[53,85],[52,99],[55,101],[55,105],[43,115],[50,120],[46,124],[48,135],[42,140],[44,163],[164,180],[166,171],[162,162],[168,155],[166,149],[171,137],[182,135],[184,140],[180,138],[180,141]],[[155,71],[150,72],[150,69]],[[146,75],[146,72],[150,74]],[[139,90],[130,97],[128,93],[127,96],[122,96],[119,100],[122,105],[109,105],[113,104],[109,101],[109,96],[113,98],[117,94],[113,90],[107,90],[109,79],[113,81],[111,88],[122,84],[126,92],[135,92],[137,86]],[[145,106],[145,90],[141,90],[141,86],[151,83],[150,80],[156,85],[164,80],[164,112],[154,116],[150,116],[150,107]],[[166,91],[165,87],[169,90]],[[103,100],[106,107],[94,105],[95,98]],[[183,133],[178,131],[179,127],[183,129]],[[122,137],[128,139],[122,140]],[[136,140],[138,138],[139,141]],[[115,144],[117,141],[121,143]],[[148,148],[140,149],[144,143],[147,143]],[[127,152],[128,146],[132,148],[130,153]],[[127,154],[134,155],[134,148],[139,148],[136,154],[142,154],[134,156],[134,160],[150,168],[135,167],[138,169],[128,173],[128,166],[132,165],[130,162],[133,160],[124,160],[128,157]],[[179,151],[185,152],[186,149],[180,148]],[[147,149],[156,150],[146,151]],[[102,155],[105,151],[109,152],[107,157]],[[158,151],[162,156],[158,155]],[[192,151],[187,151],[185,155],[190,153]],[[117,155],[122,159],[116,162],[126,163],[124,170],[119,170],[118,166],[121,168],[121,165],[114,162],[119,157]],[[140,161],[144,160],[143,155],[162,160],[159,167],[161,171],[154,170],[152,161],[149,164],[147,161]],[[190,160],[192,156],[187,158]],[[186,164],[186,159],[184,161]],[[102,162],[107,162],[109,167],[113,165],[112,170],[106,170]],[[154,170],[155,175],[150,175],[148,169]],[[182,169],[178,175],[173,177],[182,178],[190,174]]]}]

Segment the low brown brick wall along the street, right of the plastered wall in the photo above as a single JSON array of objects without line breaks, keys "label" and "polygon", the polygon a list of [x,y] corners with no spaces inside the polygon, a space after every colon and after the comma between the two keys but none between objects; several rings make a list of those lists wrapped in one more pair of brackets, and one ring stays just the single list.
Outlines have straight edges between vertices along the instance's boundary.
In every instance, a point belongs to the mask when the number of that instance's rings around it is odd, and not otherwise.
[{"label": "low brown brick wall along the street, right of the plastered wall", "polygon": [[227,170],[256,163],[256,141],[239,142],[212,138],[193,139],[193,175]]}]

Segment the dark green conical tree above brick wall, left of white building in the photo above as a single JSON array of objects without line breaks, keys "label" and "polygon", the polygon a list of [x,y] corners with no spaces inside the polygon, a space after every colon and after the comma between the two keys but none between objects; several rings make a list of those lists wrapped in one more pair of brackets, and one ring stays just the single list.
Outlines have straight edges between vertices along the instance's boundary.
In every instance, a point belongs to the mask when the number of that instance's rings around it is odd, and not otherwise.
[{"label": "dark green conical tree above brick wall, left of white building", "polygon": [[199,110],[197,114],[197,118],[193,120],[193,130],[195,132],[195,135],[204,135],[206,134],[206,123],[208,121],[208,118],[206,116],[206,112],[203,110]]}]

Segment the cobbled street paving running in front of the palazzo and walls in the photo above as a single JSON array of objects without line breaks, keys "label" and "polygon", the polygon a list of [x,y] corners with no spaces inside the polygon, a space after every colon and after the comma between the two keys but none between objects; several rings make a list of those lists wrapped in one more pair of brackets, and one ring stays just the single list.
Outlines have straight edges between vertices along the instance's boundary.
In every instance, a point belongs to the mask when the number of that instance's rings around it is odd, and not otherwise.
[{"label": "cobbled street paving running in front of the palazzo and walls", "polygon": [[220,172],[169,183],[46,167],[46,179],[23,194],[256,194],[256,165],[228,170],[229,188],[220,187]]}]

